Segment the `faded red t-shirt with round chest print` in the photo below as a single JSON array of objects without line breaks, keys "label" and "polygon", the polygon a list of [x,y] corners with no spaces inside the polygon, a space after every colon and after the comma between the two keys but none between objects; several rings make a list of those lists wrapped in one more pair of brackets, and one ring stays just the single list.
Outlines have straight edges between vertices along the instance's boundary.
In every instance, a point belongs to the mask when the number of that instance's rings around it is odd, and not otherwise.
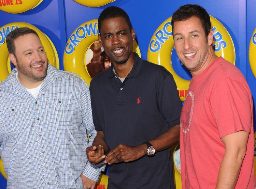
[{"label": "faded red t-shirt with round chest print", "polygon": [[239,69],[222,57],[191,79],[181,113],[182,188],[215,188],[225,153],[222,137],[250,132],[237,189],[254,189],[252,95]]}]

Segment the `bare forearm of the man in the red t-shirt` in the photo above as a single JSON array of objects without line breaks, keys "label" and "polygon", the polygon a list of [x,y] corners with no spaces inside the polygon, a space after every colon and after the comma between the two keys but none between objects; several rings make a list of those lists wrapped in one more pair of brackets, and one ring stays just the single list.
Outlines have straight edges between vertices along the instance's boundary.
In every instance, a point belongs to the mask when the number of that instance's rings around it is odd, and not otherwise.
[{"label": "bare forearm of the man in the red t-shirt", "polygon": [[236,186],[244,156],[245,151],[225,152],[219,169],[216,189],[233,189]]}]

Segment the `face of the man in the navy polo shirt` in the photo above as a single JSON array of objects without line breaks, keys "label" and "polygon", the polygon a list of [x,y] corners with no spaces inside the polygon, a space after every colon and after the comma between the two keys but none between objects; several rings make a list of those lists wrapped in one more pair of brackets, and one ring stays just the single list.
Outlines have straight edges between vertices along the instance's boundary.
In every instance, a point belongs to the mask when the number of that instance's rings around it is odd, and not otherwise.
[{"label": "face of the man in the navy polo shirt", "polygon": [[134,61],[132,57],[135,33],[130,30],[126,20],[122,17],[109,18],[101,22],[100,44],[105,53],[116,64]]}]

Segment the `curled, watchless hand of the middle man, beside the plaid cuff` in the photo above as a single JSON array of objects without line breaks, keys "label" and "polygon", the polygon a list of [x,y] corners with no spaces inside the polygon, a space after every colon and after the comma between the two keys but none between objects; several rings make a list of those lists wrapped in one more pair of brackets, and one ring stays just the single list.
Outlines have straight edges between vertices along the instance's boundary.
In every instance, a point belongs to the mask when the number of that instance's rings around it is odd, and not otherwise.
[{"label": "curled, watchless hand of the middle man, beside the plaid cuff", "polygon": [[102,145],[99,145],[98,148],[96,146],[87,147],[86,155],[88,161],[93,165],[101,162],[106,157],[104,155],[104,148]]}]

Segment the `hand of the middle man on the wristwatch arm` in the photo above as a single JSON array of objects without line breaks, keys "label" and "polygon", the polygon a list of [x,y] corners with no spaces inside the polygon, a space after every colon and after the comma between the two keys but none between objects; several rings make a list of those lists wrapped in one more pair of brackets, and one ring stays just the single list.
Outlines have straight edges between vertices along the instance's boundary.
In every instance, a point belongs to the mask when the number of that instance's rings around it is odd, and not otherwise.
[{"label": "hand of the middle man on the wristwatch arm", "polygon": [[146,154],[146,149],[146,144],[141,144],[138,146],[119,144],[106,155],[104,163],[108,163],[110,165],[112,163],[118,163],[121,161],[134,161],[144,156]]}]

